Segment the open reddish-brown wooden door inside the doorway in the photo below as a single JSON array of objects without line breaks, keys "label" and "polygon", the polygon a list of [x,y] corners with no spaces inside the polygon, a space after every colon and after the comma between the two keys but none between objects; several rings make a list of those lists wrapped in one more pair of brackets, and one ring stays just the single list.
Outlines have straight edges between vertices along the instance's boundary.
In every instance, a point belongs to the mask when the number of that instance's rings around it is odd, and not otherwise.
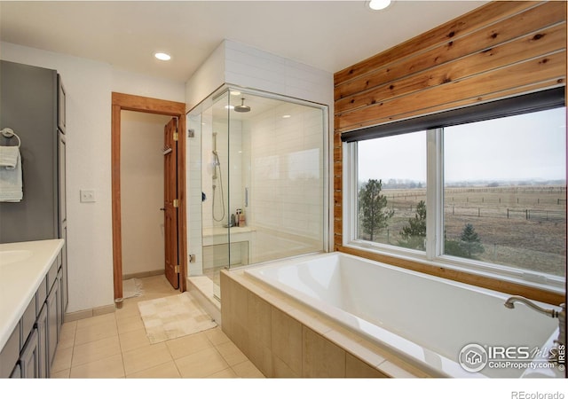
[{"label": "open reddish-brown wooden door inside the doorway", "polygon": [[179,288],[177,243],[177,118],[163,130],[163,201],[165,231],[165,275],[171,286]]}]

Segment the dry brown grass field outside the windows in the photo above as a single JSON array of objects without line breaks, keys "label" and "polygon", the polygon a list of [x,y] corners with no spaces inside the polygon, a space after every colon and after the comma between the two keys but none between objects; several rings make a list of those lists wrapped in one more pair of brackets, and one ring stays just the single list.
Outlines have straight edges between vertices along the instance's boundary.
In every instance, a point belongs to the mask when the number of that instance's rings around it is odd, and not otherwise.
[{"label": "dry brown grass field outside the windows", "polygon": [[[383,190],[395,210],[388,229],[375,241],[397,245],[400,231],[414,217],[424,189]],[[459,239],[471,223],[485,248],[477,259],[564,276],[566,269],[566,187],[447,188],[446,239]]]}]

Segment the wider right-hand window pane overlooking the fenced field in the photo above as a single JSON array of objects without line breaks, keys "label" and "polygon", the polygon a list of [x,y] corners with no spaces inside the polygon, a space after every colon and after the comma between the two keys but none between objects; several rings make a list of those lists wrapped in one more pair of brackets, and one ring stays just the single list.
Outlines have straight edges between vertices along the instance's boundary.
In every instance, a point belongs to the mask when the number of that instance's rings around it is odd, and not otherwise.
[{"label": "wider right-hand window pane overlooking the fenced field", "polygon": [[444,254],[565,275],[565,108],[444,129]]}]

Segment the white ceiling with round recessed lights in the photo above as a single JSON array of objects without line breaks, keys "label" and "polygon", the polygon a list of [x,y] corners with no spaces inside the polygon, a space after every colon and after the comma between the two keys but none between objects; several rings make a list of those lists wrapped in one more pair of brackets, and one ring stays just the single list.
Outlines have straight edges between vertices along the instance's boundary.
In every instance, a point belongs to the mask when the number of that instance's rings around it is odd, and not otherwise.
[{"label": "white ceiling with round recessed lights", "polygon": [[2,1],[0,40],[176,82],[224,39],[335,73],[484,3],[395,0],[373,12],[363,0]]}]

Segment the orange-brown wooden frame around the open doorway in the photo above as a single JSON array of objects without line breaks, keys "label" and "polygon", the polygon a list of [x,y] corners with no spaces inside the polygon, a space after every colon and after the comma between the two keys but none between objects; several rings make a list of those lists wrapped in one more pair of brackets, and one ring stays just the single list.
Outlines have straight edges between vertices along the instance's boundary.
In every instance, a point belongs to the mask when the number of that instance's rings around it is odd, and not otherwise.
[{"label": "orange-brown wooden frame around the open doorway", "polygon": [[114,299],[122,298],[122,214],[121,214],[121,111],[158,113],[177,117],[177,194],[179,207],[179,291],[186,291],[187,229],[185,210],[185,103],[112,92],[111,168],[113,211]]}]

